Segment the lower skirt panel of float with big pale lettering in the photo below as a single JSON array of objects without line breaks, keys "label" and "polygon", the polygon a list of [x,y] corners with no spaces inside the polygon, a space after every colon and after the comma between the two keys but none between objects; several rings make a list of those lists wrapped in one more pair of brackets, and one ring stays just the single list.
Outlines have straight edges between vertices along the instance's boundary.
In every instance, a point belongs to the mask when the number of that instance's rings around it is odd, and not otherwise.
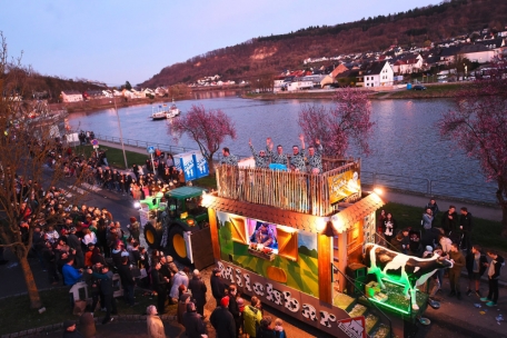
[{"label": "lower skirt panel of float with big pale lettering", "polygon": [[287,285],[276,282],[227,261],[217,262],[221,277],[236,284],[240,292],[257,296],[262,304],[305,321],[334,337],[349,337],[341,330],[339,320],[350,316],[342,309],[319,301]]}]

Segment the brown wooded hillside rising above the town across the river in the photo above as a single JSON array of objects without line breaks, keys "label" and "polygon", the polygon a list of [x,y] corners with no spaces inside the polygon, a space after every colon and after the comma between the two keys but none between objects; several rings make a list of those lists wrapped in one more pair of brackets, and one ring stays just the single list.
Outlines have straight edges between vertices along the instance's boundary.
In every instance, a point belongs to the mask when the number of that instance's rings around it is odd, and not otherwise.
[{"label": "brown wooded hillside rising above the town across the river", "polygon": [[139,86],[190,83],[215,74],[222,80],[250,80],[259,74],[300,68],[307,58],[381,51],[392,44],[422,46],[425,41],[441,41],[484,28],[503,31],[505,26],[505,0],[444,1],[407,12],[255,38],[166,67]]}]

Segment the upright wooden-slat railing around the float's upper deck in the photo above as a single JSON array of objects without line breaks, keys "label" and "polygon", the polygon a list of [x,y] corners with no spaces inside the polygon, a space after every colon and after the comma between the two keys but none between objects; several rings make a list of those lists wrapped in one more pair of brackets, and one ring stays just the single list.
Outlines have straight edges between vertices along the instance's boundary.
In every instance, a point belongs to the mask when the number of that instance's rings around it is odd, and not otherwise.
[{"label": "upright wooden-slat railing around the float's upper deck", "polygon": [[[322,159],[322,173],[217,166],[218,196],[314,216],[328,216],[338,206],[329,199],[328,178],[356,169],[359,159]],[[358,193],[360,196],[360,191]]]}]

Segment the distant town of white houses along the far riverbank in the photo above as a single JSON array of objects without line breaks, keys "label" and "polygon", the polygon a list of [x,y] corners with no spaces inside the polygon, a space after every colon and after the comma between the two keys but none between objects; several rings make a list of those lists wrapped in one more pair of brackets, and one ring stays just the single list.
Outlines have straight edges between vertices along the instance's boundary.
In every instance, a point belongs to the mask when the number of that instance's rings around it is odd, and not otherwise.
[{"label": "distant town of white houses along the far riverbank", "polygon": [[[474,31],[449,40],[401,48],[391,46],[385,51],[308,58],[301,69],[284,70],[260,79],[232,81],[220,74],[207,76],[186,83],[189,89],[248,87],[254,91],[300,91],[337,87],[365,87],[388,90],[406,82],[471,81],[488,77],[489,63],[507,56],[507,27],[494,34],[489,29]],[[66,90],[61,102],[121,97],[127,100],[163,98],[170,86],[157,88],[120,88],[103,90]]]}]

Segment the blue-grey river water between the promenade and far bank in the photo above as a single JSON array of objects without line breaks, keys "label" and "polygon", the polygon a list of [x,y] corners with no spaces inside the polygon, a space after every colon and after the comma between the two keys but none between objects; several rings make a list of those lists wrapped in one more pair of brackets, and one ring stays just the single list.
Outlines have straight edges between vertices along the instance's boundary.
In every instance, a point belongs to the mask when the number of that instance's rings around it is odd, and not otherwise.
[{"label": "blue-grey river water between the promenade and far bank", "polygon": [[[280,143],[290,151],[292,145],[299,145],[297,120],[301,108],[332,103],[329,100],[297,99],[259,101],[241,99],[235,92],[199,93],[193,100],[177,102],[182,113],[192,105],[223,110],[237,129],[237,139],[227,139],[223,147],[229,147],[235,155],[249,156],[249,138],[256,149],[265,147],[266,138],[271,137],[275,145]],[[377,172],[375,182],[378,185],[495,201],[495,187],[486,183],[478,162],[467,158],[451,142],[441,140],[435,126],[441,115],[453,108],[451,100],[374,100],[371,105],[376,122],[370,141],[372,153],[361,156],[354,145],[348,153],[361,157],[364,182],[371,183],[374,172]],[[159,103],[153,105],[157,106]],[[197,149],[197,145],[186,137],[176,143],[170,135],[170,121],[151,121],[151,109],[146,105],[118,110],[123,138]],[[76,129],[119,137],[113,109],[72,113],[69,121]]]}]

